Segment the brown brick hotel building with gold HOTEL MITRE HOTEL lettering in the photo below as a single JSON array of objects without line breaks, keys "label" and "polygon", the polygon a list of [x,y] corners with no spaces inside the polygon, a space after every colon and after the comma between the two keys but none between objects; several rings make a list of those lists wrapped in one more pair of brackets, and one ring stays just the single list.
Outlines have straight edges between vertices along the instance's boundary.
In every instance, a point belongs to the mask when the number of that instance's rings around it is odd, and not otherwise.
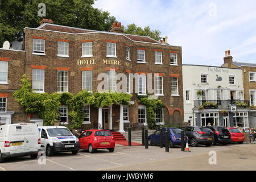
[{"label": "brown brick hotel building with gold HOTEL MITRE HOTEL lettering", "polygon": [[[170,46],[167,38],[158,42],[123,34],[121,23],[114,23],[110,32],[104,32],[61,26],[44,19],[38,28],[24,28],[18,41],[23,44],[22,50],[0,49],[1,123],[42,121],[36,113],[30,117],[13,98],[24,73],[36,93],[76,94],[82,89],[96,92],[100,73],[109,74],[110,87],[115,89],[115,74],[110,72],[113,69],[116,74],[138,73],[139,94],[146,94],[146,76],[152,73],[155,94],[166,105],[156,113],[156,123],[183,122],[182,52],[181,47]],[[146,106],[138,104],[134,90],[127,89],[127,93],[133,93],[130,106],[84,106],[87,117],[83,127],[100,123],[103,129],[123,131],[129,123],[146,124]],[[60,114],[62,122],[72,122],[67,106],[60,106]]]}]

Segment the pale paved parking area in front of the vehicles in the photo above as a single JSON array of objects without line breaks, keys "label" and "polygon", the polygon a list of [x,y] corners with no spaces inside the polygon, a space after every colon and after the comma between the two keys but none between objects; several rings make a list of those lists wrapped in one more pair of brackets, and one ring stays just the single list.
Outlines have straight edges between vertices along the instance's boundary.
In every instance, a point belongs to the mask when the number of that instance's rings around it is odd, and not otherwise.
[{"label": "pale paved parking area in front of the vehicles", "polygon": [[[184,170],[255,170],[256,144],[229,144],[227,146],[189,147],[191,152],[181,152],[180,147],[165,148],[159,146],[116,146],[115,151],[97,150],[90,154],[82,150],[77,155],[71,152],[30,159],[29,156],[10,158],[0,164],[0,170],[18,171],[184,171]],[[210,151],[216,152],[217,164],[209,164]]]}]

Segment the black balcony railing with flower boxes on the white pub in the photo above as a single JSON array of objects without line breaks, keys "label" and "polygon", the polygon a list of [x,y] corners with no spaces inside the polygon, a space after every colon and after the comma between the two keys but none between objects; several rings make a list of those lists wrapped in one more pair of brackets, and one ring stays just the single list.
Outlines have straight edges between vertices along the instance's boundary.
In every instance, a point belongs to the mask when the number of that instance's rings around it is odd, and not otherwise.
[{"label": "black balcony railing with flower boxes on the white pub", "polygon": [[250,107],[250,101],[244,100],[195,100],[194,109],[229,109],[236,105],[237,108]]}]

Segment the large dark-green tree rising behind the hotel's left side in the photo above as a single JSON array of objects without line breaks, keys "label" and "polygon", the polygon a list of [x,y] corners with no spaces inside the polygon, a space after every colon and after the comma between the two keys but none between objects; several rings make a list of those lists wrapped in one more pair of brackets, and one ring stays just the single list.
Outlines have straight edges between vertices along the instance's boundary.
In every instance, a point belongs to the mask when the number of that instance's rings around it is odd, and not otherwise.
[{"label": "large dark-green tree rising behind the hotel's left side", "polygon": [[[46,17],[38,16],[39,3],[46,4]],[[22,36],[24,27],[38,27],[43,18],[64,26],[109,31],[115,17],[93,4],[94,0],[1,0],[0,47],[5,40]]]}]

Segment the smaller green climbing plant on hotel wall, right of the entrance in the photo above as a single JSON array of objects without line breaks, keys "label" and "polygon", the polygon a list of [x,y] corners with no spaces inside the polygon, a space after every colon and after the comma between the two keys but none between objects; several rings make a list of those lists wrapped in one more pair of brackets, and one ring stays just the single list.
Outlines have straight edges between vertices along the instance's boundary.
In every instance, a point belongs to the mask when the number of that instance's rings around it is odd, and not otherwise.
[{"label": "smaller green climbing plant on hotel wall, right of the entrance", "polygon": [[152,100],[149,99],[148,96],[146,97],[140,97],[139,98],[139,104],[146,105],[147,107],[147,125],[150,127],[150,129],[155,129],[156,124],[155,124],[155,113],[156,111],[162,109],[165,105],[161,100]]}]

